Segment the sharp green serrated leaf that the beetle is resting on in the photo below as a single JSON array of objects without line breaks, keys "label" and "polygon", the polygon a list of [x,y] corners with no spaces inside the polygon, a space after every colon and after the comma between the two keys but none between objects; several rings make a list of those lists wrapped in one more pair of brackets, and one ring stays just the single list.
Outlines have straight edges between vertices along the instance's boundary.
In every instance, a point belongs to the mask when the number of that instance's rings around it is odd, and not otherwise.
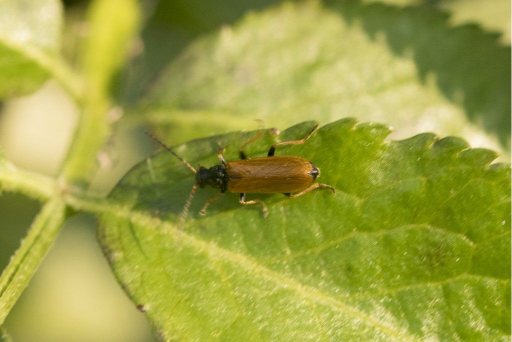
[{"label": "sharp green serrated leaf that the beetle is resting on", "polygon": [[[246,148],[265,155],[306,122]],[[193,165],[219,164],[258,132],[177,146]],[[414,340],[510,338],[510,166],[492,151],[424,133],[390,141],[387,126],[343,119],[306,144],[279,147],[321,171],[289,199],[198,189],[167,151],[127,173],[103,208],[98,238],[121,285],[162,339]]]}]

